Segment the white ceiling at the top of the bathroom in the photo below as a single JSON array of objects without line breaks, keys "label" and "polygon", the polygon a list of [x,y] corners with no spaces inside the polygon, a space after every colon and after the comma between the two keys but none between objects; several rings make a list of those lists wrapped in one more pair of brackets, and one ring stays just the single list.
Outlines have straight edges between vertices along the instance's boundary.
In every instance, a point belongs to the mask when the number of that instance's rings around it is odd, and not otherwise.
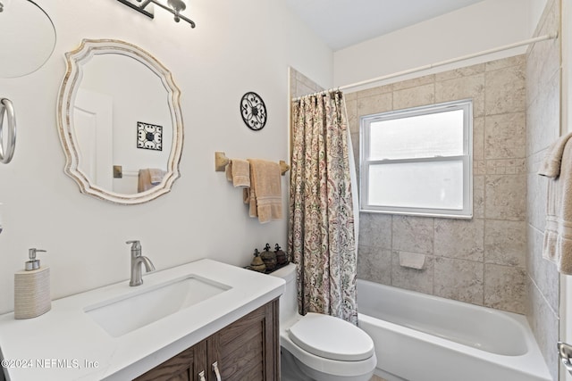
[{"label": "white ceiling at the top of the bathroom", "polygon": [[286,4],[335,51],[480,1],[286,0]]}]

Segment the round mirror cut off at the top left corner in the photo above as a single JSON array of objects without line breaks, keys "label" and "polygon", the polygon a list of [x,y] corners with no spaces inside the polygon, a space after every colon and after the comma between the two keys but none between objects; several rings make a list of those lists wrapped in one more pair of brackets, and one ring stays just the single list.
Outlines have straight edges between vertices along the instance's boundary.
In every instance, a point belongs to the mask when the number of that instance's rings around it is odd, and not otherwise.
[{"label": "round mirror cut off at the top left corner", "polygon": [[54,24],[30,0],[0,0],[0,9],[0,78],[38,70],[54,52]]}]

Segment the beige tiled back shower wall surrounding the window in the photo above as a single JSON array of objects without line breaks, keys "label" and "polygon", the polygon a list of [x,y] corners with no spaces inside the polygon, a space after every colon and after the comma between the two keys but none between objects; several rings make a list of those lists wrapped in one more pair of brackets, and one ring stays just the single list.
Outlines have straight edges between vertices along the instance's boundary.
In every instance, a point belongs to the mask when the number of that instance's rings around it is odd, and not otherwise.
[{"label": "beige tiled back shower wall surrounding the window", "polygon": [[[525,312],[526,83],[519,55],[346,95],[359,118],[473,99],[473,219],[361,213],[357,277],[504,311]],[[358,155],[357,155],[358,157]],[[424,269],[400,253],[425,254]]]}]

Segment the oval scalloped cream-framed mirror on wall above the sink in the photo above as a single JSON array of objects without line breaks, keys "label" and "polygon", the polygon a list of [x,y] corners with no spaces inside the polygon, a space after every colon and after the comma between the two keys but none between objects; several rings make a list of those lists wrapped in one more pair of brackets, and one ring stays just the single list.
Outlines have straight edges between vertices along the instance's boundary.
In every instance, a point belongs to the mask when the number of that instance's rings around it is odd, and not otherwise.
[{"label": "oval scalloped cream-framed mirror on wall above the sink", "polygon": [[182,147],[180,91],[171,73],[118,40],[83,40],[66,61],[58,97],[66,173],[83,193],[115,203],[168,192]]}]

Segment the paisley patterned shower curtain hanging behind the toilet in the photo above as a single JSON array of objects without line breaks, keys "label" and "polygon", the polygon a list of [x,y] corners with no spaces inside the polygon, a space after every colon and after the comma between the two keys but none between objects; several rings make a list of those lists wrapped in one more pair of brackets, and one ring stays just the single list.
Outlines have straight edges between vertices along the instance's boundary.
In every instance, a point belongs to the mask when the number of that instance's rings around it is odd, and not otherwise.
[{"label": "paisley patterned shower curtain hanging behind the toilet", "polygon": [[292,124],[288,248],[299,265],[299,312],[357,324],[353,163],[343,95],[328,91],[294,101]]}]

